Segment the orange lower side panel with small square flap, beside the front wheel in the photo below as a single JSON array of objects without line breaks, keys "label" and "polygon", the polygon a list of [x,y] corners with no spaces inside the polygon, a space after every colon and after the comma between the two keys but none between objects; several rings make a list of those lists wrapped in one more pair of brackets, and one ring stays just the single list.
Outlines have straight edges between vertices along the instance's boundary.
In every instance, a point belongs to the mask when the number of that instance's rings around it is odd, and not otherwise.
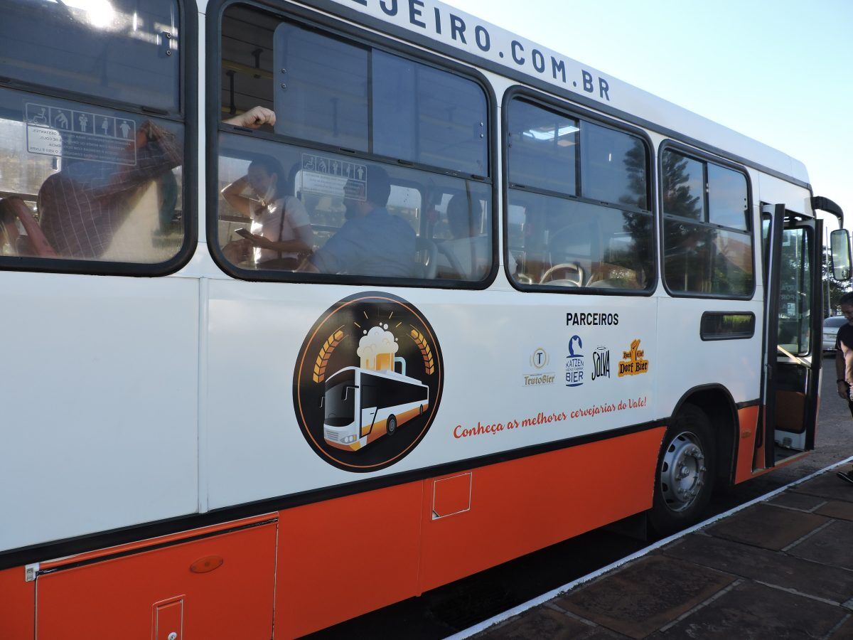
[{"label": "orange lower side panel with small square flap, beside the front wheel", "polygon": [[419,590],[650,509],[664,430],[474,469],[470,509],[446,517],[433,515],[428,480]]}]

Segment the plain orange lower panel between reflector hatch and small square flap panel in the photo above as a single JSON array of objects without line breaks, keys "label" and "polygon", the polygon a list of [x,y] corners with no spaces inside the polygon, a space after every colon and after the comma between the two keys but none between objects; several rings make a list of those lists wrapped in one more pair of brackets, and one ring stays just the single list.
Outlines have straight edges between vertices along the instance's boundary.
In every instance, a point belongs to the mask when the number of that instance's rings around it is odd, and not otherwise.
[{"label": "plain orange lower panel between reflector hatch and small square flap panel", "polygon": [[297,637],[418,595],[423,482],[279,514],[276,637]]}]

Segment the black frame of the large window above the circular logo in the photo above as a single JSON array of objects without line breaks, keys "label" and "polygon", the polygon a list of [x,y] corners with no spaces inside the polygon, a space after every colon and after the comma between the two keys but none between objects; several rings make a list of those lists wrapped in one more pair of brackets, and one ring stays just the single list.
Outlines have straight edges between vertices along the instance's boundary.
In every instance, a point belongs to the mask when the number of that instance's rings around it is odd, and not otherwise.
[{"label": "black frame of the large window above the circular logo", "polygon": [[[477,176],[469,173],[456,172],[444,167],[421,165],[409,160],[390,158],[383,155],[367,152],[354,152],[351,149],[335,147],[302,138],[289,137],[282,134],[272,134],[265,131],[252,131],[244,127],[228,125],[222,122],[220,98],[222,95],[221,71],[222,71],[222,21],[226,9],[239,4],[245,7],[259,9],[266,13],[276,15],[281,20],[288,20],[304,28],[314,29],[322,32],[329,38],[341,38],[352,44],[366,46],[371,49],[379,49],[390,55],[397,55],[414,61],[415,63],[427,65],[443,71],[453,73],[463,79],[476,83],[483,90],[486,100],[485,131],[489,139],[486,141],[486,166],[489,175]],[[213,261],[228,276],[237,280],[250,282],[293,282],[306,284],[338,284],[338,285],[368,285],[380,287],[401,288],[454,288],[482,290],[489,288],[494,282],[498,271],[497,252],[497,215],[499,191],[496,180],[496,158],[497,140],[499,136],[497,118],[497,98],[495,91],[485,75],[478,69],[467,67],[455,60],[432,54],[428,51],[415,49],[415,47],[397,42],[381,34],[369,32],[363,26],[351,24],[328,15],[321,15],[311,9],[296,5],[276,3],[275,0],[213,0],[207,6],[206,41],[207,67],[206,67],[206,142],[207,142],[207,178],[206,178],[206,232],[208,250]],[[211,50],[212,49],[212,50]],[[306,150],[319,152],[344,154],[374,162],[378,165],[398,166],[407,169],[415,169],[421,172],[430,172],[442,176],[457,177],[463,180],[472,180],[475,183],[485,185],[491,192],[491,267],[482,280],[468,281],[450,278],[401,278],[401,277],[379,277],[359,275],[339,275],[322,273],[305,273],[285,270],[270,269],[243,269],[232,264],[223,256],[222,248],[219,247],[218,239],[218,161],[219,161],[219,134],[229,132],[235,134],[248,134],[273,143],[283,143]],[[418,230],[418,237],[420,230]]]}]

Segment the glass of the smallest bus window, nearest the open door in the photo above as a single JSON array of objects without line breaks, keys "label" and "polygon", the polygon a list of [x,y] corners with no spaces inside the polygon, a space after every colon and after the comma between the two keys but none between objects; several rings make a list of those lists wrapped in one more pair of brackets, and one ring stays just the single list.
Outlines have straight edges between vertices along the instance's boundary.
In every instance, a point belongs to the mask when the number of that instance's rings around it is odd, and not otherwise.
[{"label": "glass of the smallest bus window, nearest the open door", "polygon": [[661,182],[664,279],[670,291],[751,295],[753,248],[744,174],[667,148],[661,153]]}]

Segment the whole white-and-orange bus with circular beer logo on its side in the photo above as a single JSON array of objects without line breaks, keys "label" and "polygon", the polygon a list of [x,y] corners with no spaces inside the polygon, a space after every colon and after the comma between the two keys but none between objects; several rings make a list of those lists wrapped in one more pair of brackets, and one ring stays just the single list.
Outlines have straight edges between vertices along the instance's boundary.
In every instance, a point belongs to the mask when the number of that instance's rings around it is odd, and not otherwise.
[{"label": "whole white-and-orange bus with circular beer logo on its side", "polygon": [[438,0],[0,0],[0,637],[298,637],[696,521],[815,446],[818,212]]}]

